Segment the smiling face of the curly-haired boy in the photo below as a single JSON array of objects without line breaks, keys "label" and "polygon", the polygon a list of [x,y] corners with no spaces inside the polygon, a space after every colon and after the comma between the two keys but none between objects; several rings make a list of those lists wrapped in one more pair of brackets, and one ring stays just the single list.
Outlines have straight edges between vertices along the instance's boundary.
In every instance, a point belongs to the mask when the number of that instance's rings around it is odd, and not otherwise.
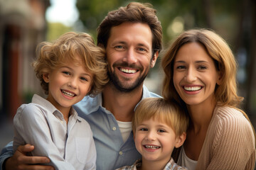
[{"label": "smiling face of the curly-haired boy", "polygon": [[67,62],[53,72],[44,74],[43,78],[49,86],[48,101],[61,112],[65,108],[70,109],[90,91],[92,76],[82,64],[73,62]]}]

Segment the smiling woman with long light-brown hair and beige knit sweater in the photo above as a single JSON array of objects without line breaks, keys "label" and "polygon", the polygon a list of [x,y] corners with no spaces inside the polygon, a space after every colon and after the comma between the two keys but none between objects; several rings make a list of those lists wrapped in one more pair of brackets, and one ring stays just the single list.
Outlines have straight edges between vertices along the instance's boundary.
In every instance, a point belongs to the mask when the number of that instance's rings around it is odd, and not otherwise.
[{"label": "smiling woman with long light-brown hair and beige knit sweater", "polygon": [[255,131],[238,106],[233,52],[213,31],[188,30],[164,56],[163,96],[186,108],[186,141],[173,157],[188,169],[254,169]]}]

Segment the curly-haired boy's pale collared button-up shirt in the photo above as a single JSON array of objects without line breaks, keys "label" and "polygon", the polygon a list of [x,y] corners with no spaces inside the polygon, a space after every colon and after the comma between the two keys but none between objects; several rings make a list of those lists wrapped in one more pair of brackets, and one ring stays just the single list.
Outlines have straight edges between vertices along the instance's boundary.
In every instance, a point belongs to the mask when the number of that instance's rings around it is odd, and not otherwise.
[{"label": "curly-haired boy's pale collared button-up shirt", "polygon": [[90,125],[71,108],[68,124],[49,101],[34,95],[14,117],[14,151],[35,146],[32,155],[50,158],[55,169],[96,169],[96,149]]}]

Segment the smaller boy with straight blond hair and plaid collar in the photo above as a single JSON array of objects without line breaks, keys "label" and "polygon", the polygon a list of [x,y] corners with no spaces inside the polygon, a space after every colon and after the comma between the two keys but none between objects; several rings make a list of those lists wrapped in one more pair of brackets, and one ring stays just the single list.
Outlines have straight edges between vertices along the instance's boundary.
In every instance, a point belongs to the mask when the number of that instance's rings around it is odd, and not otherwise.
[{"label": "smaller boy with straight blond hair and plaid collar", "polygon": [[186,169],[178,166],[171,153],[186,139],[188,116],[176,103],[164,98],[145,98],[132,120],[134,142],[142,159],[119,169]]}]

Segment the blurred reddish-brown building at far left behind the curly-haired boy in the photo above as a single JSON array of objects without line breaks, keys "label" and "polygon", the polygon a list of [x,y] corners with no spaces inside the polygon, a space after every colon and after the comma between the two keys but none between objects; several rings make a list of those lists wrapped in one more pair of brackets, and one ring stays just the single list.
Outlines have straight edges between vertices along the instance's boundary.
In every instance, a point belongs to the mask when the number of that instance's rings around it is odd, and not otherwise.
[{"label": "blurred reddish-brown building at far left behind the curly-haired boy", "polygon": [[[38,42],[46,40],[49,0],[0,1],[1,143],[13,134],[11,119],[41,86],[31,67]],[[2,147],[2,145],[1,145]]]}]

